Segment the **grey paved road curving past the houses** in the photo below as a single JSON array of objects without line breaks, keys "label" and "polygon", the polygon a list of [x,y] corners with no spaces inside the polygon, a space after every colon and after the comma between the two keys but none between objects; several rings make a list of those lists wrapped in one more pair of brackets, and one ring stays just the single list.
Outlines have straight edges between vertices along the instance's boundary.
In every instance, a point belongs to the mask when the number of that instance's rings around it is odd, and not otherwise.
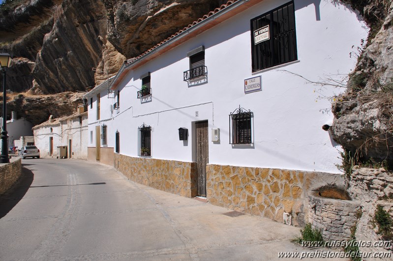
[{"label": "grey paved road curving past the houses", "polygon": [[0,197],[1,261],[279,260],[280,251],[305,251],[290,242],[299,228],[224,215],[231,210],[136,184],[103,164],[22,164],[21,182]]}]

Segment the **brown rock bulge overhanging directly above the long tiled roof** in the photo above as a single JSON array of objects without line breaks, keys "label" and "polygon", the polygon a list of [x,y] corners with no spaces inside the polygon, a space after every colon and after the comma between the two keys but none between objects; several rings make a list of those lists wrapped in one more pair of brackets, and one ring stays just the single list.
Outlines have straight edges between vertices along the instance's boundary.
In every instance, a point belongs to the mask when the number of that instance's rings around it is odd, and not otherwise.
[{"label": "brown rock bulge overhanging directly above the long tiled roof", "polygon": [[138,56],[224,0],[103,0],[108,39],[127,58]]}]

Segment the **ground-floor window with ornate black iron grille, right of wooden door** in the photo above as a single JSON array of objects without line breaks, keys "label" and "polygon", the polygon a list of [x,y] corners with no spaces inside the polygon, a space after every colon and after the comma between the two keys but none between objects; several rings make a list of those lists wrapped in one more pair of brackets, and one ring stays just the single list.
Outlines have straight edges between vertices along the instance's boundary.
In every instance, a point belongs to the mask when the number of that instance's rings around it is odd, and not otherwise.
[{"label": "ground-floor window with ornate black iron grille, right of wooden door", "polygon": [[229,143],[230,144],[250,144],[252,138],[252,118],[253,113],[239,106],[234,112],[229,114]]}]

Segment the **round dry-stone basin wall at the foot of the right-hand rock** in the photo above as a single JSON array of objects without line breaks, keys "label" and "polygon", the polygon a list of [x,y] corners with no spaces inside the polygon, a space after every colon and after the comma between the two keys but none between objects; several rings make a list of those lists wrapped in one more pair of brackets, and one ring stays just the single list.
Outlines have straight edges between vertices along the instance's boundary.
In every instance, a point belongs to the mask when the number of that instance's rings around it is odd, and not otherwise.
[{"label": "round dry-stone basin wall at the foot of the right-hand rock", "polygon": [[350,238],[360,202],[320,196],[308,196],[308,202],[308,222],[313,228],[321,229],[325,240],[342,241]]}]

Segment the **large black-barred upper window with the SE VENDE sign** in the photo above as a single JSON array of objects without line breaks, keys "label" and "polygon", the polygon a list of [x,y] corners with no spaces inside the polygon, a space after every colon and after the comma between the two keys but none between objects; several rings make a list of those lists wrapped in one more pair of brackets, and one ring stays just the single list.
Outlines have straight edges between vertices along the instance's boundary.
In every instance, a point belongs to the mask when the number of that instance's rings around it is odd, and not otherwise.
[{"label": "large black-barred upper window with the SE VENDE sign", "polygon": [[294,2],[252,19],[251,43],[252,71],[296,61]]}]

